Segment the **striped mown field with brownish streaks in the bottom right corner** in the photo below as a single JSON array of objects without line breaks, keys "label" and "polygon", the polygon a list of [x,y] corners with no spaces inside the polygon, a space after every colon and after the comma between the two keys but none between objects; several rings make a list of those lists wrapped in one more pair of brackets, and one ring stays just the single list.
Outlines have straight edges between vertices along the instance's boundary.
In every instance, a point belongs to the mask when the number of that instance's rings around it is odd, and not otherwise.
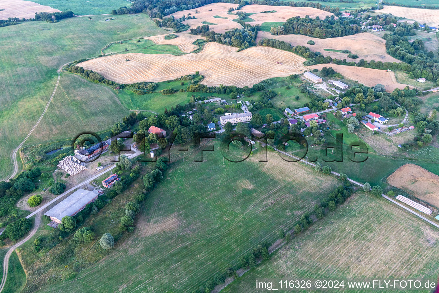
[{"label": "striped mown field with brownish streaks in the bottom right corner", "polygon": [[435,280],[438,241],[425,221],[360,192],[222,292],[253,292],[255,279],[291,276]]}]

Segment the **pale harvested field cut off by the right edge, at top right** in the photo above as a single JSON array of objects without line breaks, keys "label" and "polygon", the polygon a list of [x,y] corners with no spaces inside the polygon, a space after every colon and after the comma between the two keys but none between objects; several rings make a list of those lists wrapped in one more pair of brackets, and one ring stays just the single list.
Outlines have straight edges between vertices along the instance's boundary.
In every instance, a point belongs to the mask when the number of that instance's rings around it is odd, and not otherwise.
[{"label": "pale harvested field cut off by the right edge, at top right", "polygon": [[439,25],[439,10],[424,9],[424,8],[410,8],[384,5],[384,8],[377,10],[377,13],[388,13],[399,17],[416,20],[420,24],[427,23],[430,26]]}]

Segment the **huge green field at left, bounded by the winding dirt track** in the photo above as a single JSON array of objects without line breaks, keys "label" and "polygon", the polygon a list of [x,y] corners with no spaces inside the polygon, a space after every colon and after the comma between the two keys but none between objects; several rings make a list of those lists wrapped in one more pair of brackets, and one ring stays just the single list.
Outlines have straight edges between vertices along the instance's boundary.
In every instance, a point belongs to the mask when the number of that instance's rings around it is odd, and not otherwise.
[{"label": "huge green field at left, bounded by the winding dirt track", "polygon": [[[0,87],[4,91],[0,101],[0,140],[5,143],[0,145],[0,178],[11,174],[12,150],[43,112],[61,65],[97,56],[102,47],[116,40],[166,33],[146,14],[112,18],[111,22],[105,22],[105,16],[94,16],[93,20],[68,18],[52,24],[25,22],[1,28]],[[61,81],[61,87],[68,85]],[[62,93],[61,87],[58,91]],[[76,116],[75,109],[65,111]],[[122,116],[121,113],[118,118]]]}]

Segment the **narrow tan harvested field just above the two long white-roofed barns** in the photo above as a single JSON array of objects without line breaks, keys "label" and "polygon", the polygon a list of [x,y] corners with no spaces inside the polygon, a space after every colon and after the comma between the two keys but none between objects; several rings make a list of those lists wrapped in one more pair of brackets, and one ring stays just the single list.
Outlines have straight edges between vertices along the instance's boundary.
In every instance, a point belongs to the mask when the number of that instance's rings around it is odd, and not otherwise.
[{"label": "narrow tan harvested field just above the two long white-roofed barns", "polygon": [[[324,67],[332,67],[336,72],[340,73],[345,78],[357,80],[359,83],[363,83],[367,87],[374,87],[378,83],[381,83],[385,86],[385,90],[388,92],[392,92],[396,88],[402,90],[407,86],[407,84],[398,83],[396,81],[395,73],[386,72],[384,69],[372,69],[337,64],[318,64],[308,67],[311,69],[317,68],[319,70]],[[414,88],[412,86],[409,87],[410,89]]]}]

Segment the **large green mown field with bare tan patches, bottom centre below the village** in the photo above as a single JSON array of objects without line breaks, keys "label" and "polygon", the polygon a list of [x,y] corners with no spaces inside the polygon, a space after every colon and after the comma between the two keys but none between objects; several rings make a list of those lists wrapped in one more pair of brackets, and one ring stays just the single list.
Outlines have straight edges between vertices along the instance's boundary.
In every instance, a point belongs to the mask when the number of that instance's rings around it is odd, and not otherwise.
[{"label": "large green mown field with bare tan patches, bottom centre below the village", "polygon": [[[203,162],[193,162],[198,153],[173,163],[166,180],[148,195],[133,235],[118,243],[108,260],[38,292],[113,292],[121,286],[128,291],[191,292],[217,271],[237,264],[258,243],[276,240],[279,228],[292,228],[314,201],[339,184],[272,153],[268,163],[258,162],[259,154],[242,163],[223,163],[218,147],[215,143],[214,152],[205,152]],[[105,214],[106,221],[115,218]],[[117,265],[112,260],[116,257],[121,260]],[[59,263],[54,271],[64,268]],[[76,270],[74,262],[70,266]]]}]

